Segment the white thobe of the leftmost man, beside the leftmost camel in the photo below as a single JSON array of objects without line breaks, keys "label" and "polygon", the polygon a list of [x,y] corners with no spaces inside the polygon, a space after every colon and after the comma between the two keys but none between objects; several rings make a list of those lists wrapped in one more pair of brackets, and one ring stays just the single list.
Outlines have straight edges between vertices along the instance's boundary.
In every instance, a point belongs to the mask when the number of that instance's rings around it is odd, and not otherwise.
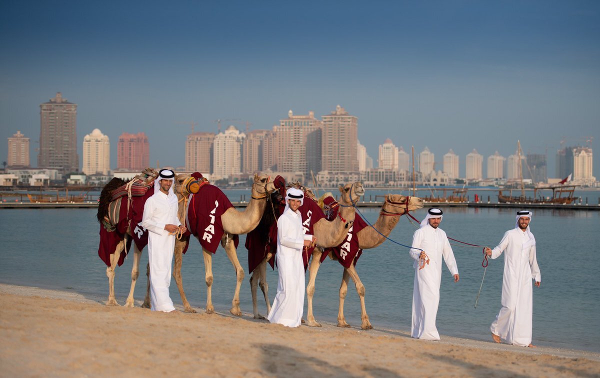
[{"label": "white thobe of the leftmost man, beside the leftmost camel", "polygon": [[166,224],[179,226],[177,197],[161,191],[146,200],[142,227],[148,233],[148,260],[150,263],[150,303],[153,311],[175,310],[169,296],[171,265],[175,250],[175,235],[164,229]]}]

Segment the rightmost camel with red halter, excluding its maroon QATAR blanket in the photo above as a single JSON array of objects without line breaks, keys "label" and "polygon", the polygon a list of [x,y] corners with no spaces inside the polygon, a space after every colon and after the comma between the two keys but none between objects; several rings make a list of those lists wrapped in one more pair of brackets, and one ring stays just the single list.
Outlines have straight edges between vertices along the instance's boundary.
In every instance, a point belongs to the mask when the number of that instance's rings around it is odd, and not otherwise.
[{"label": "rightmost camel with red halter, excluding its maroon QATAR blanket", "polygon": [[[377,218],[377,221],[373,224],[373,227],[365,224],[365,227],[356,233],[356,236],[358,236],[358,248],[360,248],[361,250],[366,250],[378,247],[386,240],[386,237],[389,236],[389,234],[392,232],[402,215],[406,214],[409,211],[415,211],[422,207],[423,201],[418,197],[405,197],[399,194],[387,194],[385,197],[385,201],[383,202],[382,209],[379,213],[379,218]],[[332,257],[332,254],[330,253],[329,256]],[[353,259],[353,261],[349,265],[349,268],[344,267],[344,274],[340,285],[340,305],[338,309],[337,326],[350,326],[348,323],[346,323],[346,319],[344,318],[344,299],[346,299],[346,295],[348,292],[348,281],[351,277],[352,281],[355,284],[356,292],[358,293],[358,296],[361,300],[361,328],[373,329],[373,326],[371,326],[371,322],[369,321],[369,317],[367,315],[367,309],[365,308],[365,286],[362,284],[360,278],[358,277],[358,272],[356,272],[356,259],[358,259],[358,257],[355,257]],[[313,271],[315,271],[314,274],[316,275],[316,271],[317,269],[319,269],[319,265],[320,260],[313,258],[313,262],[311,263],[311,278],[313,275]],[[311,280],[311,283],[314,284],[314,281]],[[309,286],[311,283],[309,283]],[[312,296],[312,293],[309,293],[309,295]],[[314,322],[313,308],[311,306],[311,303],[312,301],[309,300],[308,316],[310,322],[308,322],[307,324],[320,326],[319,323]]]}]

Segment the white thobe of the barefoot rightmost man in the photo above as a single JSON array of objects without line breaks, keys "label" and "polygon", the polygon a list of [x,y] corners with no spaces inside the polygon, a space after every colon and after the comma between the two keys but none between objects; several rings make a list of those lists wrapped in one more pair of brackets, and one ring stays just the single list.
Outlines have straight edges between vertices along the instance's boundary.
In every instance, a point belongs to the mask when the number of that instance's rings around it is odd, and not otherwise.
[{"label": "white thobe of the barefoot rightmost man", "polygon": [[529,346],[533,325],[532,279],[541,281],[535,255],[535,238],[515,228],[508,230],[500,244],[491,251],[491,258],[504,254],[502,278],[502,308],[491,324],[490,331],[506,343]]}]

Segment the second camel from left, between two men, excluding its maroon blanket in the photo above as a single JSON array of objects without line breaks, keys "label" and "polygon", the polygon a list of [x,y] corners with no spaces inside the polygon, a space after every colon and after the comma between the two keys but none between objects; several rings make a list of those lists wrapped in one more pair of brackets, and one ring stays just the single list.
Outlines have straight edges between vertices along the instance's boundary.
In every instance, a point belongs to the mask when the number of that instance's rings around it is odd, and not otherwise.
[{"label": "second camel from left, between two men, excluding its maroon blanket", "polygon": [[[227,257],[231,261],[235,274],[237,277],[235,293],[233,295],[232,307],[229,310],[236,316],[241,316],[242,311],[239,308],[239,290],[244,280],[244,269],[238,260],[238,254],[235,249],[233,242],[233,235],[245,234],[253,230],[257,224],[259,224],[260,218],[266,207],[266,197],[275,190],[275,184],[271,180],[271,176],[267,175],[254,175],[254,184],[252,185],[252,196],[251,200],[246,206],[244,211],[238,211],[235,208],[230,208],[221,215],[221,222],[223,223],[223,229],[225,233],[221,238],[221,245],[225,248]],[[202,194],[202,193],[200,193]],[[183,203],[184,195],[177,193],[180,204]],[[179,207],[179,218],[181,223],[184,223],[185,218],[185,205]],[[183,260],[183,250],[185,248],[185,242],[187,240],[182,238],[175,242],[175,267],[173,268],[173,278],[179,289],[179,295],[184,304],[184,311],[188,313],[195,313],[196,311],[191,308],[190,302],[185,297],[183,282],[181,278],[181,263]],[[205,266],[205,281],[206,281],[206,313],[214,313],[215,308],[212,305],[212,253],[202,248],[204,256]]]}]

